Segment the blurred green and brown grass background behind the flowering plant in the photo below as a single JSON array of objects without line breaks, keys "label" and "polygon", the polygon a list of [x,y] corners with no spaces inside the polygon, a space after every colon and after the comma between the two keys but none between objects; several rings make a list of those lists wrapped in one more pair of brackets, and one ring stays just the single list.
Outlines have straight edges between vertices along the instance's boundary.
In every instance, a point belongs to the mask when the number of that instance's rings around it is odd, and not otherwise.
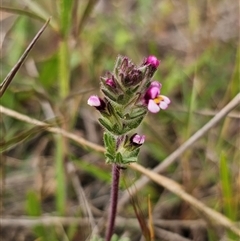
[{"label": "blurred green and brown grass background behind the flowering plant", "polygon": [[[237,1],[2,1],[1,80],[49,16],[50,26],[1,105],[102,144],[97,112],[86,104],[89,95],[99,92],[99,77],[112,70],[119,54],[139,64],[155,55],[161,65],[154,79],[172,103],[166,111],[149,114],[139,130],[147,136],[139,163],[148,168],[239,93]],[[239,118],[238,108],[164,172],[233,221],[240,219]],[[0,120],[2,216],[87,218],[80,227],[74,222],[4,226],[2,240],[87,240],[109,201],[110,167],[103,155],[7,115]],[[238,240],[219,227],[203,225],[201,214],[153,183],[138,193],[143,210],[147,194],[155,220],[179,220],[166,230],[189,240]],[[119,216],[134,218],[131,205]],[[183,228],[181,221],[193,219],[199,221],[195,228]],[[136,227],[116,230],[140,240]]]}]

